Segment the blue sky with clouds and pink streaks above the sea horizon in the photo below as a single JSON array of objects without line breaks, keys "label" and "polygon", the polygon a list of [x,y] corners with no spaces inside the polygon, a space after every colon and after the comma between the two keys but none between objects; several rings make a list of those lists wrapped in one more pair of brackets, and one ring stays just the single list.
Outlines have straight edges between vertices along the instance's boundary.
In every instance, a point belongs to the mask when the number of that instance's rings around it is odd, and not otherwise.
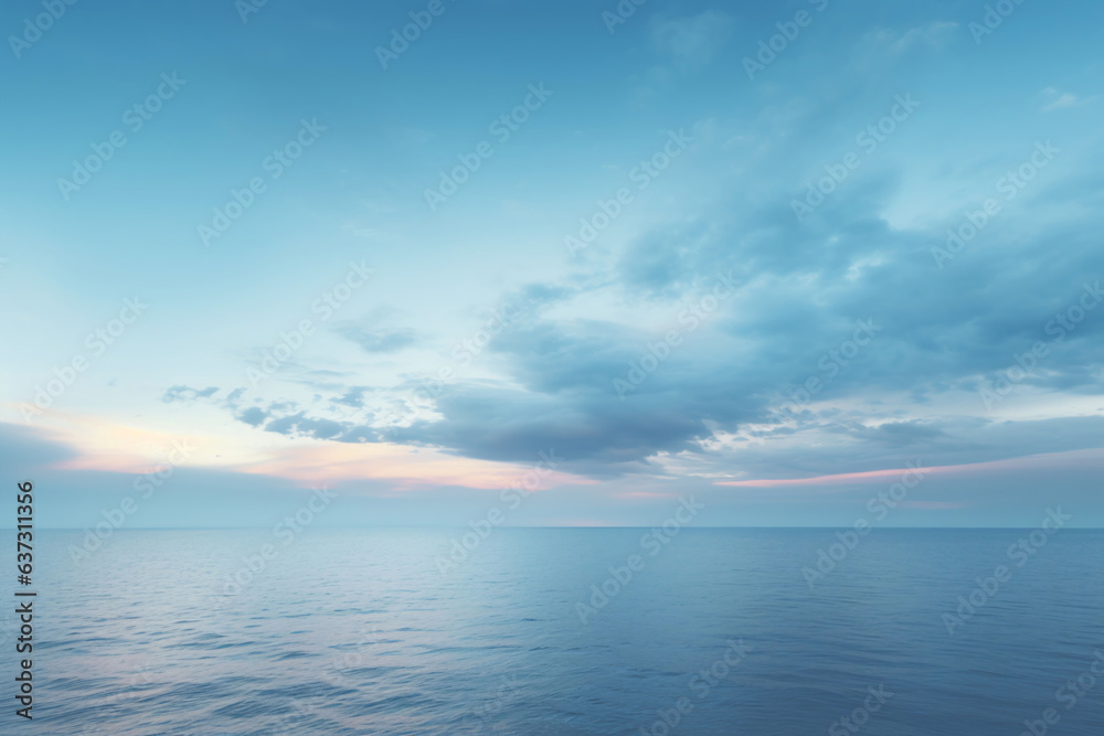
[{"label": "blue sky with clouds and pink streaks above the sea horizon", "polygon": [[6,3],[3,466],[73,529],[1100,526],[1104,7],[997,4]]}]

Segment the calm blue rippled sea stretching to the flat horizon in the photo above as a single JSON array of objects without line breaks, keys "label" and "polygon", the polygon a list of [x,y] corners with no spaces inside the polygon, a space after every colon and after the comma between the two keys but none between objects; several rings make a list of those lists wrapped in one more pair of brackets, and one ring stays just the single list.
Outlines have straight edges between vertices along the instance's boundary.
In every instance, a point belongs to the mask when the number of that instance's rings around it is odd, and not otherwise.
[{"label": "calm blue rippled sea stretching to the flat horizon", "polygon": [[36,531],[17,588],[4,735],[1104,735],[1097,530]]}]

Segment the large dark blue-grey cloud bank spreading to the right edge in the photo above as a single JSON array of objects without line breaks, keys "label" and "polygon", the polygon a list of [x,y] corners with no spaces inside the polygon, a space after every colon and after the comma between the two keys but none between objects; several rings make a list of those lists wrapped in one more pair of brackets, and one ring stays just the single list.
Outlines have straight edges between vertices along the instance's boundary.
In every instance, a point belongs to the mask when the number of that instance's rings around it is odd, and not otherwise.
[{"label": "large dark blue-grey cloud bank spreading to the right edge", "polygon": [[[769,181],[754,172],[751,179],[747,186],[758,189]],[[493,361],[500,377],[445,386],[433,417],[386,426],[328,416],[322,407],[309,414],[286,407],[268,409],[264,428],[331,441],[439,447],[497,461],[555,449],[573,471],[602,478],[668,472],[671,458],[694,472],[813,465],[846,472],[898,467],[887,463],[916,452],[980,461],[1058,449],[1061,441],[1100,444],[1100,434],[1084,429],[1047,435],[1028,433],[1030,423],[1011,423],[1027,433],[1021,436],[996,431],[980,417],[948,423],[915,416],[915,406],[946,403],[946,396],[983,413],[977,386],[1036,341],[1051,340],[1048,321],[1075,303],[1081,288],[1071,289],[1079,282],[1071,277],[1096,267],[1093,228],[1082,222],[1063,235],[1060,262],[1041,233],[941,271],[930,253],[940,242],[938,225],[930,233],[899,231],[879,216],[892,193],[885,181],[874,174],[867,185],[854,182],[821,218],[806,224],[786,206],[785,189],[771,196],[761,192],[754,204],[736,189],[678,226],[659,225],[629,242],[586,287],[529,285],[512,292],[505,300],[510,327],[486,348],[485,360]],[[709,226],[698,224],[707,220]],[[718,271],[732,271],[743,282],[691,331],[678,316],[708,292]],[[648,323],[562,312],[576,299],[603,295],[648,313]],[[857,320],[873,320],[877,337],[842,358]],[[614,380],[639,365],[649,344],[671,328],[682,330],[681,344],[622,401]],[[1104,364],[1101,334],[1104,319],[1084,320],[1050,343],[1040,370],[1017,391],[1100,392],[1102,374],[1092,366]],[[772,407],[810,377],[821,382],[816,401],[779,424]],[[331,388],[336,408],[360,408],[360,387]],[[913,406],[902,404],[901,395]],[[879,409],[879,401],[901,414]],[[845,409],[834,413],[826,402]],[[864,406],[848,408],[858,402]],[[724,438],[755,424],[765,427],[760,436],[769,449],[746,441],[725,449]],[[714,460],[703,460],[708,456]]]}]

